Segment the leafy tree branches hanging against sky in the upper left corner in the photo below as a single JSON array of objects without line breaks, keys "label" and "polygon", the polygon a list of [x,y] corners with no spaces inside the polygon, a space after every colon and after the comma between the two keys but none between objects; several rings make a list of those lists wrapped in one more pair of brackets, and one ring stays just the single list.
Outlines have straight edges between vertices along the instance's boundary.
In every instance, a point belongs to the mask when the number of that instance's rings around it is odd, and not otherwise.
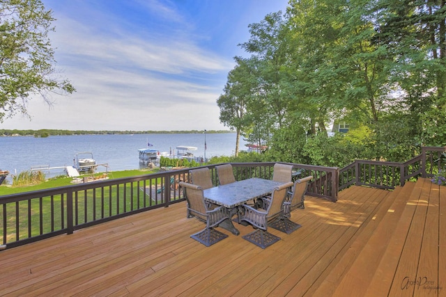
[{"label": "leafy tree branches hanging against sky in the upper left corner", "polygon": [[75,91],[53,66],[47,36],[53,21],[40,0],[0,1],[0,122],[17,112],[28,115],[26,103],[33,95],[52,104],[50,92]]}]

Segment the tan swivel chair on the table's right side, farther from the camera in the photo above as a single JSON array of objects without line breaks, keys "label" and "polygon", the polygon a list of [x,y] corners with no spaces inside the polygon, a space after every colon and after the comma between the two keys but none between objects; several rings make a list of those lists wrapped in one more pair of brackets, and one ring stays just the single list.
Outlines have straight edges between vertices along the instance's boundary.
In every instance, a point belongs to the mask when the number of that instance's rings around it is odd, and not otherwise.
[{"label": "tan swivel chair on the table's right side, farther from the camera", "polygon": [[310,175],[302,179],[298,179],[294,182],[293,191],[289,192],[289,195],[285,196],[284,200],[284,212],[282,216],[277,216],[275,219],[270,220],[269,227],[276,230],[291,234],[295,230],[298,230],[302,225],[294,223],[291,218],[291,211],[294,209],[304,209],[305,193],[307,192],[308,183],[313,179]]}]

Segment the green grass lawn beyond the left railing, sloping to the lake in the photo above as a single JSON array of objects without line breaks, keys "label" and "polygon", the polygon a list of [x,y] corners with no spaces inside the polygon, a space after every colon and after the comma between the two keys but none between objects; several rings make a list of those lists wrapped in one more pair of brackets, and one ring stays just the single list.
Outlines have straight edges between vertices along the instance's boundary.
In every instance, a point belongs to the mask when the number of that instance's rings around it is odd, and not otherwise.
[{"label": "green grass lawn beyond the left railing, sloping to the lake", "polygon": [[[111,179],[146,175],[158,170],[125,170],[109,172]],[[99,173],[102,175],[102,173]],[[84,175],[91,176],[91,175]],[[37,191],[46,188],[68,186],[72,177],[56,177],[41,184],[31,186],[0,186],[0,199],[3,195]],[[151,182],[152,183],[152,182]],[[159,184],[155,179],[153,184]],[[149,184],[146,184],[149,186]],[[136,195],[134,195],[136,194]],[[73,195],[75,225],[90,222],[99,218],[107,218],[123,212],[148,207],[160,203],[141,191],[141,184],[130,183],[125,186],[111,188],[96,188],[77,191]],[[8,203],[0,211],[0,221],[6,220],[6,225],[0,225],[0,244],[3,241],[3,231],[6,228],[6,241],[26,239],[38,234],[46,234],[66,227],[66,198],[60,195],[36,198],[22,202]],[[3,218],[3,216],[5,216]]]}]

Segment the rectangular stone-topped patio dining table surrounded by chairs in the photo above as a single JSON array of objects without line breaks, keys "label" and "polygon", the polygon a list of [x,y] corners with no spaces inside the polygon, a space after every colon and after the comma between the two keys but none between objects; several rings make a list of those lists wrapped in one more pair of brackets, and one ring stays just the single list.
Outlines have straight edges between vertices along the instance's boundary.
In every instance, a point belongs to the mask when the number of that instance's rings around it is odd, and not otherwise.
[{"label": "rectangular stone-topped patio dining table surrounded by chairs", "polygon": [[[231,216],[234,216],[240,211],[241,204],[244,204],[249,200],[269,195],[275,187],[280,186],[281,184],[283,183],[274,182],[270,179],[253,177],[231,184],[207,188],[203,191],[203,194],[206,201],[228,208]],[[224,220],[219,226],[229,230],[232,234],[240,234],[240,231],[234,227],[231,219]]]}]

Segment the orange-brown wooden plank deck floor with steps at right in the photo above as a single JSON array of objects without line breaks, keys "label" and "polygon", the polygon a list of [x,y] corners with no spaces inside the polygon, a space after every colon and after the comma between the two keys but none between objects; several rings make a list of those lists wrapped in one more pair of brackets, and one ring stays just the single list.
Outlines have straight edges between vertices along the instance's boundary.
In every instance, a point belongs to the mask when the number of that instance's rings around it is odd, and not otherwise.
[{"label": "orange-brown wooden plank deck floor with steps at right", "polygon": [[240,235],[209,248],[185,202],[0,252],[6,296],[445,296],[446,187],[353,186],[307,197],[302,227],[262,250]]}]

